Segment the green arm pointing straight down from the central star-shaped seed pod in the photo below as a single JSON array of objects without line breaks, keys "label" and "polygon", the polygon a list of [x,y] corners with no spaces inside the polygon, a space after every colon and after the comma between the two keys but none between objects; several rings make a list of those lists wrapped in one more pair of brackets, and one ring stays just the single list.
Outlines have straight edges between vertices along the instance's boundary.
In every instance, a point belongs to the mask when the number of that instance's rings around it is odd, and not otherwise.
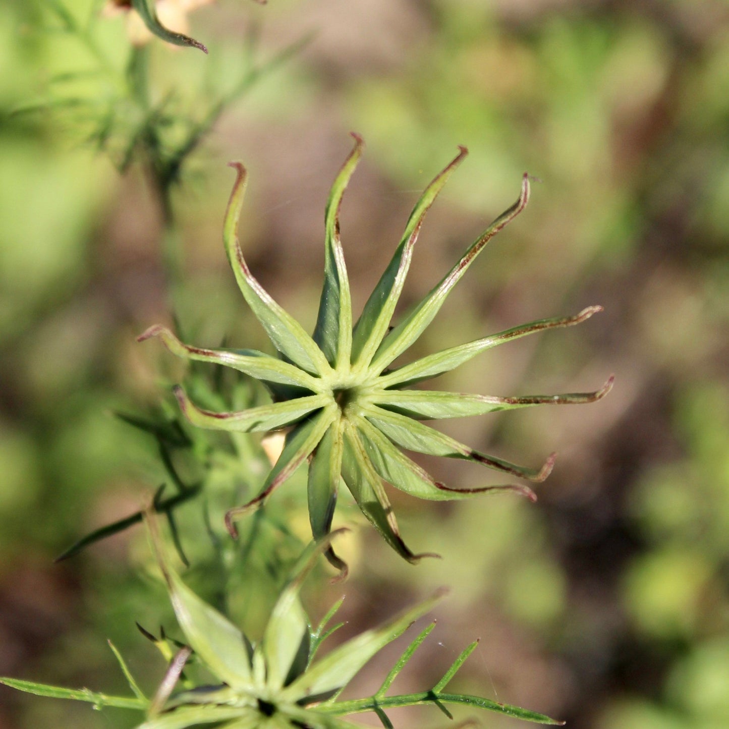
[{"label": "green arm pointing straight down from the central star-shaped seed pod", "polygon": [[[314,539],[321,539],[332,527],[332,517],[337,504],[337,491],[342,471],[342,451],[344,445],[340,422],[335,421],[316,447],[316,452],[309,464],[308,506],[311,533]],[[327,560],[338,569],[339,580],[347,576],[348,568],[331,545],[327,547]]]}]

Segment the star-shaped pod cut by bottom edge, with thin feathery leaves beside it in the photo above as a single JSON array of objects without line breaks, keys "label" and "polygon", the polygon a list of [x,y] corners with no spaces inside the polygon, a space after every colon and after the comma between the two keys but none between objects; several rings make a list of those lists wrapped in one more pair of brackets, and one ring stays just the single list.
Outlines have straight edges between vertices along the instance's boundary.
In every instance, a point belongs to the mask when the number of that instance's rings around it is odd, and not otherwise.
[{"label": "star-shaped pod cut by bottom edge, with thin feathery leaves beside it", "polygon": [[[147,524],[184,636],[183,644],[169,639],[164,631],[157,639],[138,624],[142,634],[154,642],[168,660],[167,671],[155,694],[147,697],[112,644],[109,645],[133,696],[5,677],[0,677],[0,684],[40,696],[85,701],[92,703],[95,709],[136,709],[146,717],[136,729],[193,729],[207,725],[219,729],[357,729],[361,725],[344,717],[362,712],[375,712],[383,726],[392,727],[386,710],[423,704],[437,707],[449,719],[453,719],[453,715],[447,706],[460,705],[540,724],[564,723],[530,709],[449,691],[451,680],[477,647],[477,640],[461,651],[429,690],[390,693],[394,679],[433,630],[434,622],[426,625],[413,639],[373,695],[340,700],[340,692],[370,659],[405,633],[445,594],[444,590],[438,590],[383,625],[362,631],[320,655],[324,641],[344,625],[341,622],[331,625],[343,598],[315,628],[309,623],[299,593],[316,559],[329,548],[332,537],[346,530],[332,531],[306,547],[278,595],[260,640],[252,642],[237,625],[201,599],[182,580],[171,564],[151,513],[148,513]],[[191,665],[187,665],[188,661]],[[480,726],[480,723],[471,718],[458,724],[451,722],[450,726],[451,729],[464,729]]]}]

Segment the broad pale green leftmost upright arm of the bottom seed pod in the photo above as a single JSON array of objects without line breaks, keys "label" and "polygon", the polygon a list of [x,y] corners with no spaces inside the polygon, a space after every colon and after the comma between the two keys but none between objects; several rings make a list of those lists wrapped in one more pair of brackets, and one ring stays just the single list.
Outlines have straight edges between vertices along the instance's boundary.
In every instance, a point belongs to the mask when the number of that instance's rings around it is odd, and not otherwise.
[{"label": "broad pale green leftmost upright arm of the bottom seed pod", "polygon": [[233,688],[248,689],[251,663],[243,634],[182,582],[165,553],[154,518],[148,518],[147,523],[177,622],[190,647],[221,681]]}]

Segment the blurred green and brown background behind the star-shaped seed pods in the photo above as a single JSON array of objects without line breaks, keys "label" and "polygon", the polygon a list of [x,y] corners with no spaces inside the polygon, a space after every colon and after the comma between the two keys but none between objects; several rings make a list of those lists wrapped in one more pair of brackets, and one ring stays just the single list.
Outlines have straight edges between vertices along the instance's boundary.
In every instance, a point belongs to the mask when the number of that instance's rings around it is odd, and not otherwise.
[{"label": "blurred green and brown background behind the star-shaped seed pods", "polygon": [[[99,5],[64,2],[74,17]],[[191,23],[209,57],[156,40],[148,53],[151,98],[192,114],[230,88],[254,39],[270,58],[311,37],[225,109],[187,160],[171,243],[143,165],[117,174],[95,149],[101,112],[63,103],[101,109],[121,93],[113,79],[130,52],[127,19],[95,28],[112,66],[100,76],[93,48],[59,31],[46,3],[0,10],[0,675],[123,692],[108,638],[148,687],[160,679],[161,660],[149,659],[133,623],[174,623],[144,569],[141,530],[52,560],[139,509],[163,480],[153,441],[113,415],[152,408],[183,371],[160,346],[136,344],[139,332],[170,323],[174,303],[195,343],[267,348],[220,241],[233,179],[225,163],[249,168],[241,238],[254,272],[311,329],[324,202],[356,130],[367,149],[341,216],[355,307],[457,144],[470,155],[426,219],[403,307],[512,203],[523,171],[542,181],[414,354],[605,307],[434,386],[585,391],[610,373],[616,384],[595,405],[449,422],[451,434],[507,459],[538,464],[558,451],[539,502],[451,506],[393,494],[410,546],[443,559],[401,563],[363,526],[347,547],[350,580],[313,590],[313,613],[346,593],[354,631],[447,584],[436,639],[402,690],[423,688],[480,636],[461,690],[576,729],[725,728],[729,4],[219,0]],[[27,108],[49,100],[51,110]],[[134,128],[135,109],[106,139],[117,163],[114,144],[125,124]],[[427,465],[454,486],[483,483],[467,464]],[[302,488],[299,478],[276,499],[305,538]],[[199,504],[184,509],[192,520]],[[335,525],[353,518],[344,509]],[[359,695],[383,666],[359,679]],[[1,729],[133,720],[0,687]]]}]

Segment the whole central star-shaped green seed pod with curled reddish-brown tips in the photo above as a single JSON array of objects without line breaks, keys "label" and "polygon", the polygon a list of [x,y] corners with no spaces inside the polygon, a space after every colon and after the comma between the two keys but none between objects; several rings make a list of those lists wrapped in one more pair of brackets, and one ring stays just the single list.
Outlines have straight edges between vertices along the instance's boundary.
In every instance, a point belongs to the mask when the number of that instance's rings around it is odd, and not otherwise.
[{"label": "whole central star-shaped green seed pod with curled reddish-brown tips", "polygon": [[[435,480],[403,451],[464,459],[507,475],[533,482],[545,480],[552,470],[554,454],[539,468],[522,467],[488,456],[459,443],[422,421],[515,410],[544,404],[594,402],[612,387],[612,377],[601,389],[574,394],[494,397],[478,394],[410,389],[415,383],[437,377],[494,346],[557,327],[570,327],[601,311],[585,308],[575,316],[541,319],[485,338],[454,346],[390,370],[397,357],[418,340],[440,311],[446,297],[466,273],[486,243],[511,222],[529,200],[529,176],[524,174],[518,200],[478,236],[439,284],[397,326],[391,319],[405,284],[413,248],[429,207],[456,166],[459,155],[426,187],[405,226],[392,260],[353,326],[351,297],[339,233],[339,208],[343,192],[362,155],[363,142],[353,135],[355,146],[340,169],[325,213],[324,288],[313,335],[276,303],[252,276],[236,235],[241,213],[246,171],[237,171],[228,203],[223,238],[235,279],[254,315],[268,334],[278,356],[246,349],[203,349],[179,341],[159,325],[139,337],[158,336],[174,354],[186,359],[222,364],[260,380],[273,402],[242,412],[213,413],[201,410],[182,388],[175,394],[192,424],[235,432],[268,432],[291,429],[278,461],[258,494],[247,504],[227,514],[235,536],[234,520],[261,504],[307,459],[308,506],[315,539],[330,531],[340,480],[375,529],[402,557],[417,562],[426,554],[413,553],[400,537],[385,482],[411,496],[435,501],[467,499],[494,491],[515,491],[535,500],[531,488],[509,483],[499,486],[458,489]],[[346,564],[327,550],[327,558],[341,576]]]}]

